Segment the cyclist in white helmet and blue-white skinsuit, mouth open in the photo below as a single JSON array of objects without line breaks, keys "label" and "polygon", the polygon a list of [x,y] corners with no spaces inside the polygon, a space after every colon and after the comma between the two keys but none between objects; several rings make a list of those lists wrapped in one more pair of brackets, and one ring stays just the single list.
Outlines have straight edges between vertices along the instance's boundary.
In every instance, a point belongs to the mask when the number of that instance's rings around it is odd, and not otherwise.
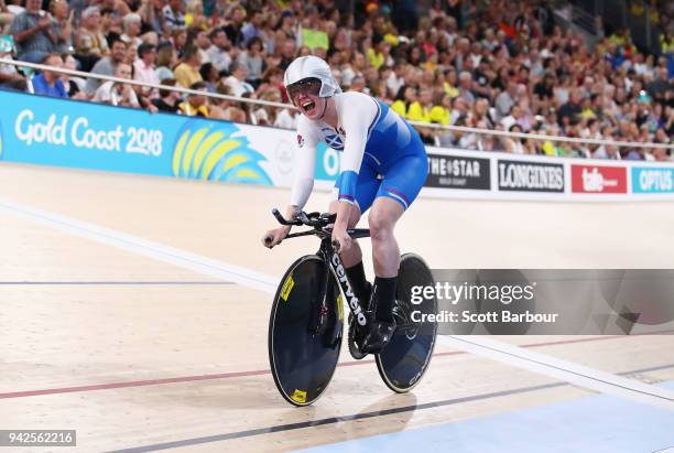
[{"label": "cyclist in white helmet and blue-white skinsuit, mouth open", "polygon": [[[285,217],[293,218],[313,190],[318,142],[341,151],[336,199],[329,206],[331,213],[337,213],[333,240],[339,242],[339,256],[354,294],[374,310],[374,320],[369,322],[369,332],[362,333],[359,346],[377,354],[395,331],[393,302],[400,249],[393,229],[426,181],[424,144],[418,133],[385,104],[362,93],[343,93],[328,64],[316,56],[293,61],[285,71],[284,85],[302,114]],[[373,285],[366,279],[358,242],[347,234],[370,207]],[[262,242],[269,248],[281,244],[290,228],[281,226],[268,231],[264,238],[271,241],[263,238]]]}]

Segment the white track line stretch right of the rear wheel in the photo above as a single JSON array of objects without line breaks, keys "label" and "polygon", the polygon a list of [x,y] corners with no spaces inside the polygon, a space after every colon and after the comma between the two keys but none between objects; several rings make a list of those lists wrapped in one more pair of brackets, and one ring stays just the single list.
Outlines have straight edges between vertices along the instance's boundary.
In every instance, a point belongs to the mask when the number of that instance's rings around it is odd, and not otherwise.
[{"label": "white track line stretch right of the rear wheel", "polygon": [[441,335],[438,341],[470,354],[546,375],[601,393],[674,410],[674,391],[483,336]]}]

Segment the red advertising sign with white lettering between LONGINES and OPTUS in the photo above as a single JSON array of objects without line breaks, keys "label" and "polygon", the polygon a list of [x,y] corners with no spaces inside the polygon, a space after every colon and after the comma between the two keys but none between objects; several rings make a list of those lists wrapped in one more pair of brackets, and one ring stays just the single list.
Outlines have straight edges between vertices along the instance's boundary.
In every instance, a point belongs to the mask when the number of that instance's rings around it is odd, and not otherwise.
[{"label": "red advertising sign with white lettering between LONGINES and OPTUS", "polygon": [[572,192],[581,194],[626,194],[624,166],[572,165]]}]

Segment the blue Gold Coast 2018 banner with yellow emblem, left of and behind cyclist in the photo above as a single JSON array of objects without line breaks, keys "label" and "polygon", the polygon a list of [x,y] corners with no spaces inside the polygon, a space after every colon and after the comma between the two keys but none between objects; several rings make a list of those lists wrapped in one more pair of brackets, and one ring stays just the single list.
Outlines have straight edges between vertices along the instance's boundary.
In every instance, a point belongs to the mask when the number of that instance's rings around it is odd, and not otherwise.
[{"label": "blue Gold Coast 2018 banner with yellow emblem, left of and behind cyclist", "polygon": [[[0,91],[0,105],[2,161],[290,184],[292,131],[12,91]],[[323,158],[317,176],[334,181],[338,160]]]}]

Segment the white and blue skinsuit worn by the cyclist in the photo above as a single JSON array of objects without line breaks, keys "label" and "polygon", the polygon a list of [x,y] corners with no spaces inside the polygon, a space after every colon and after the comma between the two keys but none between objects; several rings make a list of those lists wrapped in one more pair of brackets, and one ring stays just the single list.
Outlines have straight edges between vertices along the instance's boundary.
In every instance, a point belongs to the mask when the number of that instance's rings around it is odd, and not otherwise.
[{"label": "white and blue skinsuit worn by the cyclist", "polygon": [[335,187],[338,199],[357,203],[360,212],[374,198],[395,199],[410,207],[421,191],[428,160],[418,133],[385,104],[362,93],[334,96],[337,129],[304,115],[297,121],[297,150],[291,204],[303,208],[314,187],[316,149],[325,141],[343,151],[341,172]]}]

